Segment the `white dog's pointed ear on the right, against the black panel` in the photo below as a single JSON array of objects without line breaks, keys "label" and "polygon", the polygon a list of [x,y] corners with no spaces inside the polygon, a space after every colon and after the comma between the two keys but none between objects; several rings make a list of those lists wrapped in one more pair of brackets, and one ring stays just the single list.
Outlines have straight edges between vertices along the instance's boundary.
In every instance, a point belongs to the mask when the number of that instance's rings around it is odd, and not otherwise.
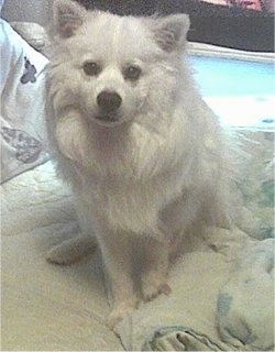
[{"label": "white dog's pointed ear on the right, against the black panel", "polygon": [[190,25],[187,14],[172,14],[154,22],[154,38],[163,51],[174,52],[184,48]]}]

